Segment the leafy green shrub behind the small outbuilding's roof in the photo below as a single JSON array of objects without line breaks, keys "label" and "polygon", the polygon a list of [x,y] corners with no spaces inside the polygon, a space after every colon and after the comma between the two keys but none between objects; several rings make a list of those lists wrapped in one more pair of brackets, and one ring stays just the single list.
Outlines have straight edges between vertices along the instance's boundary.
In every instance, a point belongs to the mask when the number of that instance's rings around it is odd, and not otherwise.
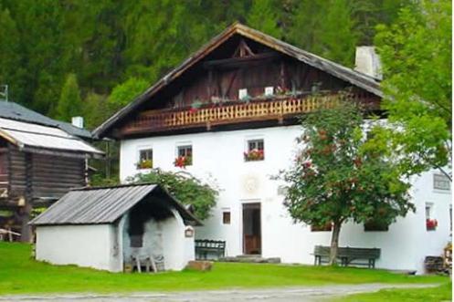
[{"label": "leafy green shrub behind the small outbuilding's roof", "polygon": [[208,218],[211,209],[216,205],[216,189],[188,172],[164,172],[153,169],[149,173],[137,174],[129,181],[160,184],[181,203],[194,206],[195,216],[201,220]]}]

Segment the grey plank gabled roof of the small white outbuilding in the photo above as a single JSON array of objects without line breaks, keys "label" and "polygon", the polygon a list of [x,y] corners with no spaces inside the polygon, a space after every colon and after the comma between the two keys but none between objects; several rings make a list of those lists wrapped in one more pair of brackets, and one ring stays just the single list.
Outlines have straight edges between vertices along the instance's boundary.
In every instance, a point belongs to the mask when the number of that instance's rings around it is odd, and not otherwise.
[{"label": "grey plank gabled roof of the small white outbuilding", "polygon": [[156,193],[181,214],[185,222],[202,225],[182,203],[157,184],[74,189],[52,204],[30,224],[113,224],[147,196]]}]

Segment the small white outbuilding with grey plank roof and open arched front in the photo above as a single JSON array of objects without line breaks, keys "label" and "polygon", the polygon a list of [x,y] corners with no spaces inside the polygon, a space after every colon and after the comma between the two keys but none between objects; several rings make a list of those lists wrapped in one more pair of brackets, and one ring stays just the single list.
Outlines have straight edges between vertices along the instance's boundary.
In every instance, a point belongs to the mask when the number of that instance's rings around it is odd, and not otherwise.
[{"label": "small white outbuilding with grey plank roof and open arched front", "polygon": [[37,260],[111,272],[183,269],[201,225],[155,184],[74,189],[30,224]]}]

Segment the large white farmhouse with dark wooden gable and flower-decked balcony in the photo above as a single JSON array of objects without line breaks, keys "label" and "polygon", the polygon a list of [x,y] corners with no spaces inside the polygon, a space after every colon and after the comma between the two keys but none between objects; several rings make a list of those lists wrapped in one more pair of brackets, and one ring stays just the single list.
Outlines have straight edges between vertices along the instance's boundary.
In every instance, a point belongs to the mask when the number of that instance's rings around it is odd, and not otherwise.
[{"label": "large white farmhouse with dark wooden gable and flower-decked balcony", "polygon": [[[225,240],[231,256],[312,264],[314,246],[329,245],[331,232],[293,224],[282,184],[270,177],[294,158],[298,116],[345,90],[385,117],[378,79],[234,24],[95,134],[121,141],[123,182],[153,167],[216,183],[216,209],[197,238]],[[340,245],[379,248],[377,267],[422,273],[425,257],[440,255],[450,239],[450,182],[426,172],[411,194],[416,213],[389,226],[348,223]]]}]

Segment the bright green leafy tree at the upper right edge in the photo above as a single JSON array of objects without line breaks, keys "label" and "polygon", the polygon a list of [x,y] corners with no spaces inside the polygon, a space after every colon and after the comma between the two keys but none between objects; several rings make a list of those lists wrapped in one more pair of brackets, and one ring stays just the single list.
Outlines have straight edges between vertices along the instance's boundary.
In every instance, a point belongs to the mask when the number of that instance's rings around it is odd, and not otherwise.
[{"label": "bright green leafy tree at the upper right edge", "polygon": [[[402,9],[392,26],[378,26],[383,108],[392,123],[382,143],[399,151],[409,174],[449,164],[452,140],[451,2],[422,1]],[[377,140],[378,141],[378,140]]]}]

